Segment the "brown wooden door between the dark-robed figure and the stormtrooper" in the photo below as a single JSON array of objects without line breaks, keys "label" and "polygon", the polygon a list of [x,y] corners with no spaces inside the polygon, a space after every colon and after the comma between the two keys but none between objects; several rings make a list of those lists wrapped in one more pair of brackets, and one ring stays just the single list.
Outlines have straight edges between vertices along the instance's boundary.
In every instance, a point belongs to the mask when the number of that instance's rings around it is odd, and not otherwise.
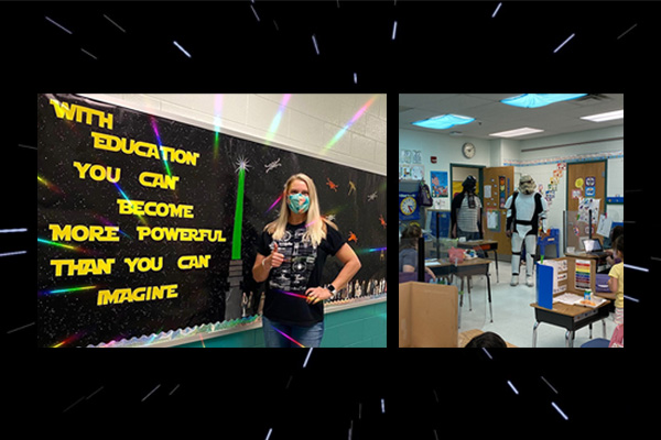
[{"label": "brown wooden door between the dark-robed figure and the stormtrooper", "polygon": [[507,238],[507,209],[505,202],[514,189],[514,167],[498,166],[484,169],[483,224],[485,240],[498,242],[499,255],[511,255],[512,246]]}]

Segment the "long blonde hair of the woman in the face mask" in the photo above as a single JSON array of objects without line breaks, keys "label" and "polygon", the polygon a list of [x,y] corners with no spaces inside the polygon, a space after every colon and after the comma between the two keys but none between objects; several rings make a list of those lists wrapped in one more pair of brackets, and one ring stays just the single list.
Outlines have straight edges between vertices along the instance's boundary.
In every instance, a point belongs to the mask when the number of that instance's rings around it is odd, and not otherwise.
[{"label": "long blonde hair of the woman in the face mask", "polygon": [[302,180],[307,185],[307,197],[310,198],[310,208],[307,209],[307,219],[305,220],[306,231],[303,239],[310,240],[313,245],[318,246],[322,240],[326,238],[326,224],[330,224],[335,229],[337,229],[337,226],[319,213],[319,201],[314,182],[303,173],[294,174],[284,184],[282,202],[280,204],[280,216],[277,220],[267,224],[264,231],[268,231],[273,237],[273,240],[281,240],[284,235],[290,215],[290,207],[286,202],[288,195],[294,180]]}]

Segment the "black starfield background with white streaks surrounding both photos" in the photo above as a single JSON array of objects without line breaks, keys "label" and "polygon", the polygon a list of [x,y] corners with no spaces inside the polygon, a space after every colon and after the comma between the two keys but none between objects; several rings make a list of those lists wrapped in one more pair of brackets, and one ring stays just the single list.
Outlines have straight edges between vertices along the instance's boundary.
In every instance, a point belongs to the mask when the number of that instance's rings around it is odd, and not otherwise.
[{"label": "black starfield background with white streaks surrounding both photos", "polygon": [[[271,440],[650,426],[661,268],[652,215],[658,4],[503,2],[494,16],[498,3],[2,3],[1,224],[28,229],[0,237],[0,253],[11,254],[0,257],[10,424],[20,416],[69,433],[176,426],[188,437]],[[28,284],[36,234],[24,202],[34,197],[26,188],[34,188],[36,92],[378,91],[391,95],[393,107],[407,91],[529,89],[626,95],[627,263],[647,272],[626,271],[636,300],[627,301],[625,350],[404,352],[393,344],[184,355],[34,348]],[[394,125],[391,134],[395,140]]]}]

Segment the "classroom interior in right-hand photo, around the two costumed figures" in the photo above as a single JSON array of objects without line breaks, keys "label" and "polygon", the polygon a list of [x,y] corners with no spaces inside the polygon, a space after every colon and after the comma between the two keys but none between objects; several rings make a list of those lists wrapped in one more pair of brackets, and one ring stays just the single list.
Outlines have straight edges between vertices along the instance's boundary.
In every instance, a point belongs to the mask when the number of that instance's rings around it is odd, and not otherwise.
[{"label": "classroom interior in right-hand photo, around the two costumed figures", "polygon": [[[464,241],[451,209],[468,176],[483,234]],[[513,283],[507,200],[522,176],[545,201],[546,231],[530,271],[523,245]],[[624,346],[621,292],[617,301],[608,285],[624,189],[622,94],[399,95],[399,346]]]}]

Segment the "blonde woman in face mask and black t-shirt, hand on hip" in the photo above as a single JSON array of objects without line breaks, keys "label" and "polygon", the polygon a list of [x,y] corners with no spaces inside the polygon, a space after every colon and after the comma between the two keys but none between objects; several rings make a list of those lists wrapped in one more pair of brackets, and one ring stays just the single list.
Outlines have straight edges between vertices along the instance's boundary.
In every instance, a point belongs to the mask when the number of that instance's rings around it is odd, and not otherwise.
[{"label": "blonde woman in face mask and black t-shirt, hand on hip", "polygon": [[[335,279],[321,285],[324,263],[335,255],[344,265]],[[322,217],[316,187],[305,174],[284,184],[280,216],[258,241],[252,276],[267,280],[262,317],[267,346],[319,346],[324,304],[360,270],[360,261],[337,226]],[[293,340],[293,341],[292,341]]]}]

